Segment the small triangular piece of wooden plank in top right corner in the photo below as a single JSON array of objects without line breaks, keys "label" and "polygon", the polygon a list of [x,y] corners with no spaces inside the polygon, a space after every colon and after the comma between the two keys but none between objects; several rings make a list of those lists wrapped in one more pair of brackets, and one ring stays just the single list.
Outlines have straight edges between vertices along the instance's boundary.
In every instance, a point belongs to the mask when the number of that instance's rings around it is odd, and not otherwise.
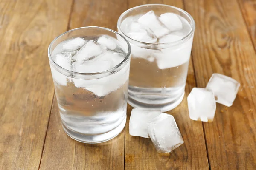
[{"label": "small triangular piece of wooden plank in top right corner", "polygon": [[255,0],[238,0],[245,23],[249,30],[251,39],[256,49],[256,1]]}]

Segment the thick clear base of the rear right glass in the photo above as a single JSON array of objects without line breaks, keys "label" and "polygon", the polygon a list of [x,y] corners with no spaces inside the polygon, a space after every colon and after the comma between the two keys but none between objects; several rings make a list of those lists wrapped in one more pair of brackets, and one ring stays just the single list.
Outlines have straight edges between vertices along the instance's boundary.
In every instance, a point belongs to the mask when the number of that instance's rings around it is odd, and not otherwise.
[{"label": "thick clear base of the rear right glass", "polygon": [[184,90],[185,86],[151,89],[129,86],[128,103],[134,108],[155,108],[166,112],[176,108],[182,102]]}]

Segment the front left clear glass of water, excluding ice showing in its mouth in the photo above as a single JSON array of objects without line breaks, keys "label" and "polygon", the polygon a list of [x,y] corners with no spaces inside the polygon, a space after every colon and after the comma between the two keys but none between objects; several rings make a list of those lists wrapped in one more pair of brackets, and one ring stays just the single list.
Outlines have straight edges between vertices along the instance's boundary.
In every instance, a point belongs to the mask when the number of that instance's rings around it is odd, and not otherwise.
[{"label": "front left clear glass of water, excluding ice showing in its mouth", "polygon": [[[77,73],[57,65],[52,59],[55,47],[70,38],[108,35],[116,39],[125,53],[124,60],[107,71]],[[84,143],[105,142],[117,136],[125,126],[131,47],[125,38],[108,28],[82,27],[56,37],[48,48],[48,57],[62,126],[71,138]],[[78,85],[83,84],[86,88]],[[97,96],[90,90],[108,90]],[[88,90],[89,89],[89,90]]]}]

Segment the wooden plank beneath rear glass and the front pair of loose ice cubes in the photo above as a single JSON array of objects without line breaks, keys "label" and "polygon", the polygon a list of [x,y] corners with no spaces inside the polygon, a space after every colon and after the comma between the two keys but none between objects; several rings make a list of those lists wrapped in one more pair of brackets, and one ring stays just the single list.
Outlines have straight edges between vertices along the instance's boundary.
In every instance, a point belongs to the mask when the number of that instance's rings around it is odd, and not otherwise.
[{"label": "wooden plank beneath rear glass and the front pair of loose ice cubes", "polygon": [[[128,2],[128,8],[142,5],[137,0],[129,0]],[[143,4],[147,3],[166,3],[183,8],[182,0],[143,1]],[[151,139],[130,136],[128,125],[132,108],[128,106],[128,119],[125,129],[125,170],[209,169],[202,123],[190,120],[188,115],[186,97],[193,87],[195,87],[195,76],[192,61],[190,61],[186,95],[177,108],[167,112],[175,117],[184,139],[184,144],[172,151],[170,155],[158,154]]]}]

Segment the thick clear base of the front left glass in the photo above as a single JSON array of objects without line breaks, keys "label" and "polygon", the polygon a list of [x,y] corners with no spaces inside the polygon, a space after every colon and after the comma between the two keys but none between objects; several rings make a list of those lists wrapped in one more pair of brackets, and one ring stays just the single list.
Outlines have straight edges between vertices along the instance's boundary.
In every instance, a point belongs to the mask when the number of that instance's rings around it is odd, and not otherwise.
[{"label": "thick clear base of the front left glass", "polygon": [[98,135],[85,135],[82,133],[78,133],[76,131],[69,129],[64,124],[62,124],[62,127],[64,131],[67,133],[67,135],[70,136],[70,138],[83,143],[95,144],[95,143],[106,142],[110,139],[113,139],[117,135],[119,135],[119,133],[121,133],[123,128],[125,127],[125,123],[126,123],[126,116],[118,127],[114,128],[111,131],[108,131],[107,133],[102,133]]}]

